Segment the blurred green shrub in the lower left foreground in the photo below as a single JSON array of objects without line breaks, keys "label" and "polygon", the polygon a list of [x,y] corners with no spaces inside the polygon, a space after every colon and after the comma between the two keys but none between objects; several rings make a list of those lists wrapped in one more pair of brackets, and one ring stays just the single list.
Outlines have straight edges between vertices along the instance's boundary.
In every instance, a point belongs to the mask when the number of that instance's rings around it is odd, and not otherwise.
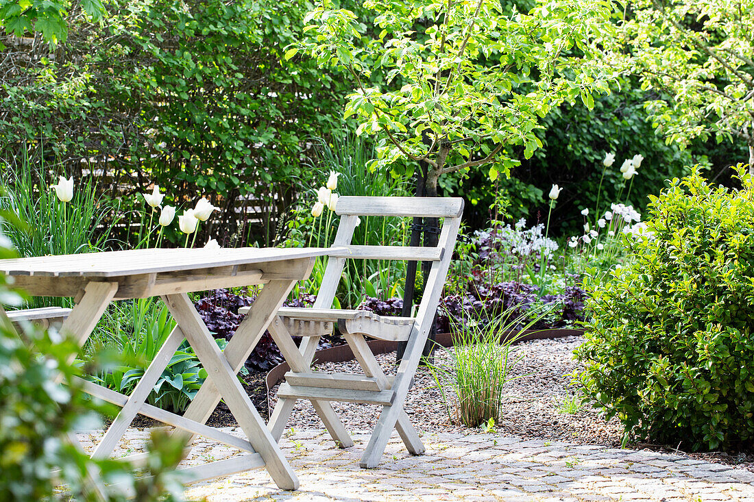
[{"label": "blurred green shrub in the lower left foreground", "polygon": [[[7,244],[0,230],[0,258],[13,255]],[[23,300],[8,291],[2,274],[0,299],[5,305]],[[166,432],[152,435],[145,472],[151,476],[140,479],[133,477],[130,464],[91,460],[70,442],[75,430],[102,427],[99,414],[110,409],[79,389],[75,377],[81,372],[69,363],[77,352],[72,341],[33,325],[17,332],[0,305],[0,500],[115,502],[126,500],[125,488],[139,502],[181,500],[173,470],[183,458],[184,443]],[[101,476],[87,475],[94,472]],[[106,488],[103,482],[120,484]],[[60,483],[65,489],[57,488]]]}]

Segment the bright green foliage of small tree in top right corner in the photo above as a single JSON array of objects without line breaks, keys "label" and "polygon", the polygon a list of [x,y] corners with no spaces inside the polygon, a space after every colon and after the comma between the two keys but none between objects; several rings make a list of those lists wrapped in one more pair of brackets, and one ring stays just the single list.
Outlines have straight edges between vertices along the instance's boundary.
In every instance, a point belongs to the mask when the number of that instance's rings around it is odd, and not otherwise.
[{"label": "bright green foliage of small tree in top right corner", "polygon": [[743,140],[754,173],[754,1],[639,0],[622,27],[618,60],[673,96],[647,103],[657,131],[680,145]]}]

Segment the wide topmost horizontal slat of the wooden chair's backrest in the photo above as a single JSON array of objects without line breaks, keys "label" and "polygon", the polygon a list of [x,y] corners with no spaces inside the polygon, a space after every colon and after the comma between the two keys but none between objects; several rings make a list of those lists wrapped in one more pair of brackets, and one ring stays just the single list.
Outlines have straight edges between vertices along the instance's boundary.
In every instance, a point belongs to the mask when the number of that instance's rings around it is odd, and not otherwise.
[{"label": "wide topmost horizontal slat of the wooden chair's backrest", "polygon": [[415,216],[458,218],[464,210],[460,197],[356,197],[338,199],[336,214],[357,216]]}]

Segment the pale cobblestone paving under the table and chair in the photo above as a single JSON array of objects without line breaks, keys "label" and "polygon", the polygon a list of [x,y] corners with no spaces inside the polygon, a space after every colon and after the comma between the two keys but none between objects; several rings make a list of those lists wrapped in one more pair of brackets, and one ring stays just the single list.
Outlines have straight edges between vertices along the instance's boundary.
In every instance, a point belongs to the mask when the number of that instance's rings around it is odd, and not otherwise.
[{"label": "pale cobblestone paving under the table and chair", "polygon": [[[236,429],[226,432],[241,433]],[[84,434],[87,448],[101,433]],[[522,440],[501,434],[426,434],[413,457],[397,434],[379,468],[358,467],[369,436],[341,450],[322,431],[294,431],[280,442],[299,476],[298,491],[277,488],[265,470],[189,486],[207,500],[752,500],[754,473],[654,451]],[[139,451],[146,432],[131,429],[120,455]],[[199,441],[187,464],[221,460],[231,448]]]}]

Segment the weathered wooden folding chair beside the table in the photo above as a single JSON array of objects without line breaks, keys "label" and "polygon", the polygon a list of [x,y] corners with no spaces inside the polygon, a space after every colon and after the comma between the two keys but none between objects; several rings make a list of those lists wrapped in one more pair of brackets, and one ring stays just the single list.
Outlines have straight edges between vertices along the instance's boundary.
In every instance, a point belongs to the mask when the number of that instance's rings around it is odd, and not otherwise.
[{"label": "weathered wooden folding chair beside the table", "polygon": [[[348,431],[329,403],[345,401],[382,405],[379,421],[361,458],[361,467],[379,464],[394,428],[413,455],[425,451],[403,411],[403,403],[437,311],[463,207],[461,198],[340,197],[336,214],[341,219],[333,246],[346,250],[329,254],[314,308],[280,308],[268,328],[292,370],[286,374],[286,382],[280,385],[279,400],[269,424],[275,439],[280,439],[296,399],[309,399],[336,444],[342,448],[353,445]],[[437,247],[358,246],[352,245],[351,239],[359,216],[441,218],[443,225]],[[346,259],[432,262],[416,317],[381,317],[366,311],[329,308],[333,305]],[[310,369],[320,336],[332,332],[335,322],[351,346],[363,375],[330,374]],[[293,343],[292,335],[305,337],[300,347]],[[365,337],[407,342],[394,379],[387,378],[382,372]]]}]

